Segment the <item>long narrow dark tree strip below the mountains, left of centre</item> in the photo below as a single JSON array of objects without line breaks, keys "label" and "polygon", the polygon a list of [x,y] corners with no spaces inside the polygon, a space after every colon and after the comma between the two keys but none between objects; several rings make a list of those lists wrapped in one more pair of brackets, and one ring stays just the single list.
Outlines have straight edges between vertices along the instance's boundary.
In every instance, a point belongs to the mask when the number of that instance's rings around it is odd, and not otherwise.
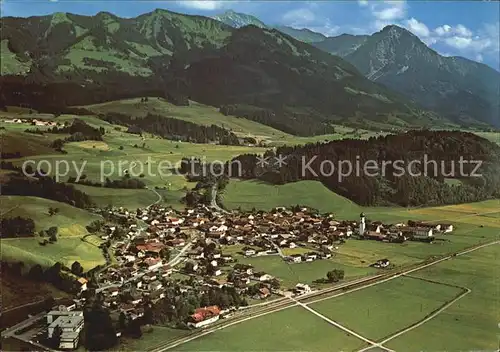
[{"label": "long narrow dark tree strip below the mountains, left of centre", "polygon": [[188,121],[152,114],[148,114],[144,118],[135,118],[120,113],[107,113],[100,114],[99,118],[129,128],[134,126],[132,133],[145,131],[172,140],[239,145],[238,137],[233,132],[216,125],[202,126]]}]

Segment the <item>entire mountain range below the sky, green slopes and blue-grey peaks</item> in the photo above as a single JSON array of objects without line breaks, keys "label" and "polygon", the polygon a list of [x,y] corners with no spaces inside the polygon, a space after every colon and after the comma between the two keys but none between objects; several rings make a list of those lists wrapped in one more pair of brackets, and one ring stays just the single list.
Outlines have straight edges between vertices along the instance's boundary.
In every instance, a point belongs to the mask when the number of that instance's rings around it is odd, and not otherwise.
[{"label": "entire mountain range below the sky, green slopes and blue-grey peaks", "polygon": [[297,133],[305,125],[302,133],[324,133],[332,122],[499,125],[497,71],[444,58],[396,26],[327,38],[235,12],[212,19],[155,10],[5,17],[1,30],[4,105],[83,105],[158,90]]}]

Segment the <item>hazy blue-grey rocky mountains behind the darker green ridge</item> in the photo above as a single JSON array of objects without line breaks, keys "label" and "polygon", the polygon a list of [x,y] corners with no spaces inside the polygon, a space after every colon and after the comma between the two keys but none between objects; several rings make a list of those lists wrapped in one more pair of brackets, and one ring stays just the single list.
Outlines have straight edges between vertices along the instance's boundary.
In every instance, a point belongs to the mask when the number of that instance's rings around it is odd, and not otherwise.
[{"label": "hazy blue-grey rocky mountains behind the darker green ridge", "polygon": [[[241,15],[239,26],[253,24],[245,22],[248,15],[231,13],[233,19],[238,15]],[[218,18],[232,26],[226,16]],[[387,26],[373,35],[335,37],[307,29],[276,28],[344,58],[370,80],[403,93],[423,107],[460,124],[480,121],[500,126],[500,73],[462,57],[439,55],[404,28]],[[304,33],[309,35],[304,37]]]}]

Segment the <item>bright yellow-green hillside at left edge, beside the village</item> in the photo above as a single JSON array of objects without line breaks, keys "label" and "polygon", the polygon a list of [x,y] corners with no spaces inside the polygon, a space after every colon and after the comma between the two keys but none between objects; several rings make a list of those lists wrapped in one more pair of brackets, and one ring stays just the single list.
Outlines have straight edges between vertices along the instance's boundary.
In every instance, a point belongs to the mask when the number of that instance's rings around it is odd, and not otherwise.
[{"label": "bright yellow-green hillside at left edge, beside the village", "polygon": [[[59,208],[59,213],[48,215],[48,208]],[[65,265],[78,260],[88,270],[103,264],[102,252],[95,245],[82,241],[87,234],[85,226],[99,216],[64,203],[36,197],[0,196],[2,217],[22,216],[35,221],[36,230],[51,226],[59,229],[56,243],[41,246],[39,237],[6,238],[1,240],[2,260],[23,261],[26,265],[50,266],[59,261]]]}]

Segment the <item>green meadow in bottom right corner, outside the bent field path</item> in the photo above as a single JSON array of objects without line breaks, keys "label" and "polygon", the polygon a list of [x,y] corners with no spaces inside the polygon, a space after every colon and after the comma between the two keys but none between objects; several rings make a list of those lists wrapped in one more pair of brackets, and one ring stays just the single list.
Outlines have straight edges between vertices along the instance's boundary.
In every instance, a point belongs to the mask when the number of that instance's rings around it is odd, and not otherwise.
[{"label": "green meadow in bottom right corner, outside the bent field path", "polygon": [[500,322],[500,245],[482,248],[413,273],[465,286],[471,293],[415,330],[388,342],[396,351],[494,351]]}]

